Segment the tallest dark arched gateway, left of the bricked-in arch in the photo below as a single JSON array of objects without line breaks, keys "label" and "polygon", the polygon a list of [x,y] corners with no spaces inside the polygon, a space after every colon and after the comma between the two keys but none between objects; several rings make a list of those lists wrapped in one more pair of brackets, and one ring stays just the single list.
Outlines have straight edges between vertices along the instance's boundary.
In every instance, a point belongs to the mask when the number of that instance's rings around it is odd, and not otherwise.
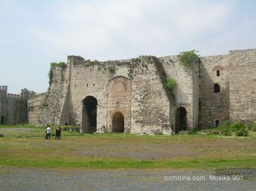
[{"label": "tallest dark arched gateway, left of the bricked-in arch", "polygon": [[87,96],[83,100],[82,130],[85,133],[97,131],[97,99]]}]

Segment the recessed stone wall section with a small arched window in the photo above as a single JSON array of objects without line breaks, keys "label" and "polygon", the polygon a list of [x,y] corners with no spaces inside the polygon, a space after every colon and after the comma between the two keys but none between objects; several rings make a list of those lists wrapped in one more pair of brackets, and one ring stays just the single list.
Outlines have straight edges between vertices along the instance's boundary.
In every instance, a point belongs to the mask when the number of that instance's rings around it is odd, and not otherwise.
[{"label": "recessed stone wall section with a small arched window", "polygon": [[[199,67],[199,126],[214,127],[215,120],[229,119],[229,55],[202,57]],[[215,83],[219,93],[214,93]]]}]

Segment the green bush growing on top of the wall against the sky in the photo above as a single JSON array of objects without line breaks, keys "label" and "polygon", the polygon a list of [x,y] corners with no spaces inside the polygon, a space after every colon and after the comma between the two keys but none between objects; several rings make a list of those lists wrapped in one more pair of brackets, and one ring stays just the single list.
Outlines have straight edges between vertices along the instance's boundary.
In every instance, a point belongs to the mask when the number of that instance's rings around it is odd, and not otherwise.
[{"label": "green bush growing on top of the wall against the sky", "polygon": [[195,50],[180,52],[178,55],[180,65],[183,65],[186,68],[190,68],[193,65],[193,62],[195,62],[199,57],[199,51]]}]

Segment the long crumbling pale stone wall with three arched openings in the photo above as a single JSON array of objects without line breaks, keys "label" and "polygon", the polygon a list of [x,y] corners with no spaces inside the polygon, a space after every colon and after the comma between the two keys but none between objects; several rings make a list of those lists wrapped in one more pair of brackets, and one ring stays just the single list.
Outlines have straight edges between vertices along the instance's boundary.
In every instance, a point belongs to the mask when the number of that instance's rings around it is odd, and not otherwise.
[{"label": "long crumbling pale stone wall with three arched openings", "polygon": [[[68,56],[65,67],[51,70],[48,91],[29,99],[45,103],[36,123],[77,125],[88,133],[170,134],[256,116],[256,49],[202,57],[192,68],[178,56],[107,62]],[[174,96],[163,78],[176,79]]]}]

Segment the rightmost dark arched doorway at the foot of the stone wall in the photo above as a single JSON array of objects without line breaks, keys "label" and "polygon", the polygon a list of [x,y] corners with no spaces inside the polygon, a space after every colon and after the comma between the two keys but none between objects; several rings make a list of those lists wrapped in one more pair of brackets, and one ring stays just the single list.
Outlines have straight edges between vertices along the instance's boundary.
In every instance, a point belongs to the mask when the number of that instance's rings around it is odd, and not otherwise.
[{"label": "rightmost dark arched doorway at the foot of the stone wall", "polygon": [[177,108],[175,112],[175,133],[180,130],[186,130],[186,109],[183,107]]}]

